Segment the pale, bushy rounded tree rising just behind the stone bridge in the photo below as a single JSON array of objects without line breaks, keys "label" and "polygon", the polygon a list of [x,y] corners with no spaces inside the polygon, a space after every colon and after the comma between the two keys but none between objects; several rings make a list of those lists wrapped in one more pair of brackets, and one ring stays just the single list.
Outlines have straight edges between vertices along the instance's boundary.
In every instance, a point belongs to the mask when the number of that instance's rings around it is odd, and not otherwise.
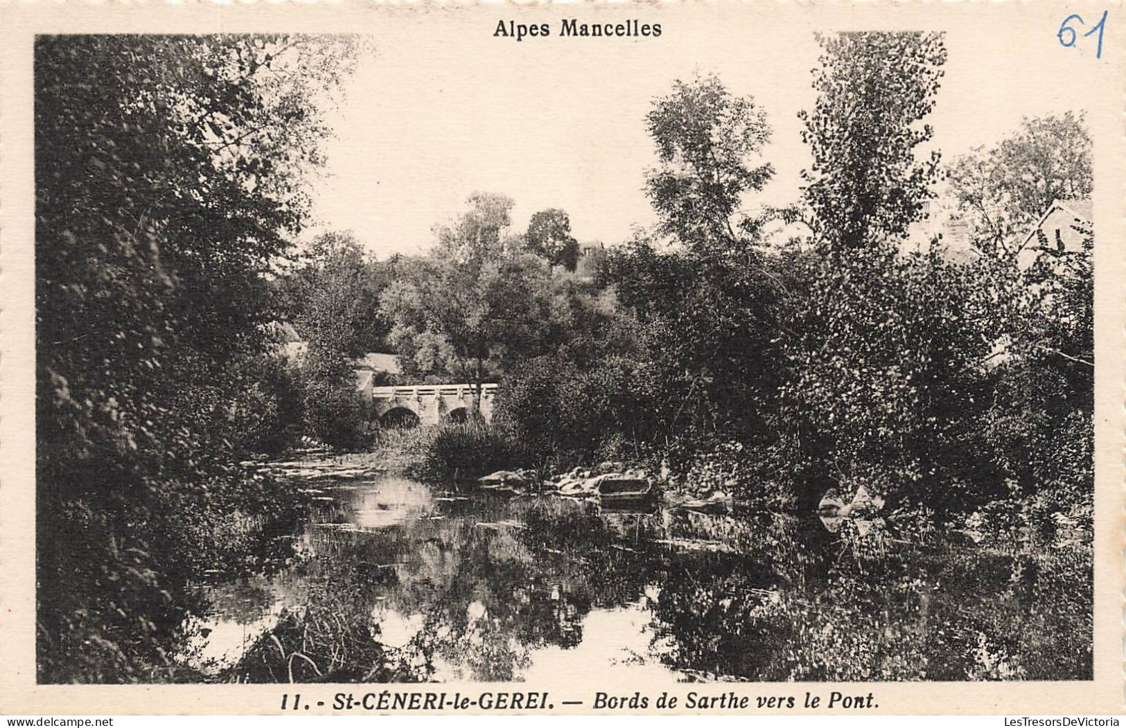
[{"label": "pale, bushy rounded tree rising just behind the stone bridge", "polygon": [[467,203],[435,228],[434,253],[403,268],[381,309],[408,368],[473,384],[480,410],[481,385],[540,341],[549,288],[543,262],[506,235],[512,200],[476,194]]}]

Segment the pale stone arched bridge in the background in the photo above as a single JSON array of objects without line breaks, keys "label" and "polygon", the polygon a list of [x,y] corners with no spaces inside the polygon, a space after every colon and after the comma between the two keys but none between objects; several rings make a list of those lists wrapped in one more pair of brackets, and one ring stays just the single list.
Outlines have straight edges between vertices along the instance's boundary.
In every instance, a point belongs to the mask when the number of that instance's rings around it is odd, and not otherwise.
[{"label": "pale stone arched bridge in the background", "polygon": [[[476,386],[471,384],[428,384],[404,387],[373,387],[370,378],[358,383],[360,396],[373,414],[385,424],[437,424],[464,422],[473,410]],[[481,386],[481,416],[492,420],[497,385]]]}]

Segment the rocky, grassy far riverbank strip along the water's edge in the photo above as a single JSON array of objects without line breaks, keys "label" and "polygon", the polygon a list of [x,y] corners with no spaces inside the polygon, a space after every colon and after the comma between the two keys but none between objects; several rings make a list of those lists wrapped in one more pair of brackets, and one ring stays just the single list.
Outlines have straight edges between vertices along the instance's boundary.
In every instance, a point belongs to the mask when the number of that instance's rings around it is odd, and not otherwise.
[{"label": "rocky, grassy far riverbank strip along the water's edge", "polygon": [[[645,491],[664,507],[753,519],[758,513],[788,514],[808,520],[811,511],[799,511],[785,483],[763,476],[753,458],[739,443],[721,444],[697,453],[679,474],[646,468],[632,461],[602,461],[583,467],[529,468],[519,448],[506,442],[484,424],[446,423],[411,429],[385,429],[372,449],[339,453],[327,448],[301,450],[298,462],[278,462],[279,475],[306,476],[309,480],[363,478],[377,474],[397,475],[428,483],[457,484],[462,489],[503,489],[512,493],[554,493],[569,497],[602,496],[601,479],[610,485]],[[631,485],[628,482],[632,482]],[[644,482],[644,488],[641,483]],[[869,486],[870,487],[870,486]],[[823,494],[816,516],[824,529],[841,542],[861,550],[882,543],[921,542],[938,533],[941,538],[974,543],[999,542],[1012,534],[1026,542],[1061,547],[1089,545],[1091,507],[1079,501],[1070,507],[1039,497],[1011,492],[972,512],[939,516],[910,502],[885,507],[876,489],[864,484],[839,484]],[[1066,504],[1065,504],[1066,505]]]}]

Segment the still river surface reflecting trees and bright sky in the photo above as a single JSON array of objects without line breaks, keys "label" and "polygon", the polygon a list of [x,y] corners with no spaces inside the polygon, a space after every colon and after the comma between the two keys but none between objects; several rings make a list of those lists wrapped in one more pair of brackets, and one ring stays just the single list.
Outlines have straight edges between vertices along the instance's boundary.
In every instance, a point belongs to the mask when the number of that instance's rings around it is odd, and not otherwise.
[{"label": "still river surface reflecting trees and bright sky", "polygon": [[248,682],[1006,677],[989,671],[1038,646],[995,644],[1008,627],[990,615],[1020,622],[1034,600],[1082,591],[1045,573],[967,601],[939,584],[1007,579],[1011,556],[963,569],[917,555],[873,579],[793,519],[608,512],[396,477],[332,488],[298,550],[272,578],[207,590],[197,667]]}]

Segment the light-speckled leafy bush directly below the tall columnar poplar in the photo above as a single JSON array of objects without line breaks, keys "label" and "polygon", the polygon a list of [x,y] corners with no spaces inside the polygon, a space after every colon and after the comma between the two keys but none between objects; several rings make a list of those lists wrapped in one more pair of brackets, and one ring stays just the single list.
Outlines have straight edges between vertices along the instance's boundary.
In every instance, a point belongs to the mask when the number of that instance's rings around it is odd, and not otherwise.
[{"label": "light-speckled leafy bush directly below the tall columnar poplar", "polygon": [[[957,509],[954,480],[976,483],[989,350],[973,300],[981,285],[937,246],[805,261],[781,388],[779,467],[815,507],[839,476],[876,474],[884,495]],[[990,475],[990,474],[986,474]],[[986,478],[990,480],[993,478]]]}]

